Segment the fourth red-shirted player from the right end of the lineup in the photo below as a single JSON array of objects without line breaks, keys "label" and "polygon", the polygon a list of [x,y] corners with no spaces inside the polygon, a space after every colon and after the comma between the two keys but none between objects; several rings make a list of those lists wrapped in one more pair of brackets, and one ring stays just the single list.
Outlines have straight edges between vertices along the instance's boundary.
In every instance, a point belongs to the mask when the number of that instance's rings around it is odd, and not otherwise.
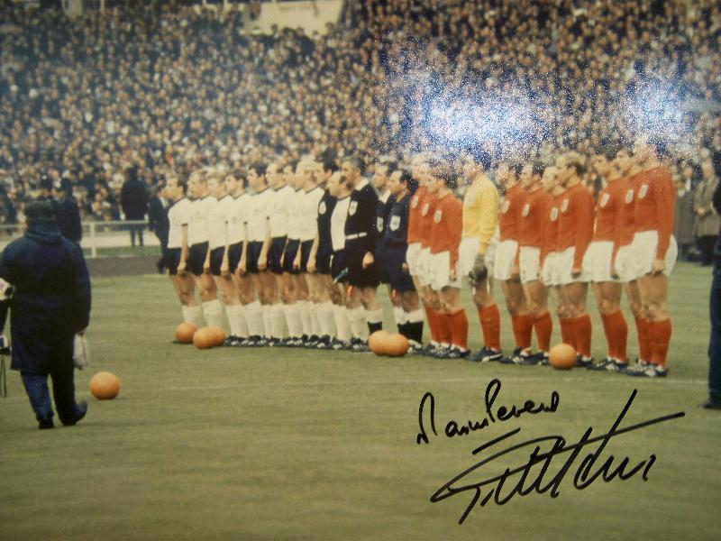
[{"label": "fourth red-shirted player from the right end of the lineup", "polygon": [[589,189],[581,182],[586,167],[580,155],[564,154],[557,162],[559,182],[566,188],[559,209],[559,265],[561,285],[573,319],[573,335],[578,353],[576,364],[589,367],[591,358],[591,318],[586,298],[591,280],[589,244],[593,237],[594,203]]}]

